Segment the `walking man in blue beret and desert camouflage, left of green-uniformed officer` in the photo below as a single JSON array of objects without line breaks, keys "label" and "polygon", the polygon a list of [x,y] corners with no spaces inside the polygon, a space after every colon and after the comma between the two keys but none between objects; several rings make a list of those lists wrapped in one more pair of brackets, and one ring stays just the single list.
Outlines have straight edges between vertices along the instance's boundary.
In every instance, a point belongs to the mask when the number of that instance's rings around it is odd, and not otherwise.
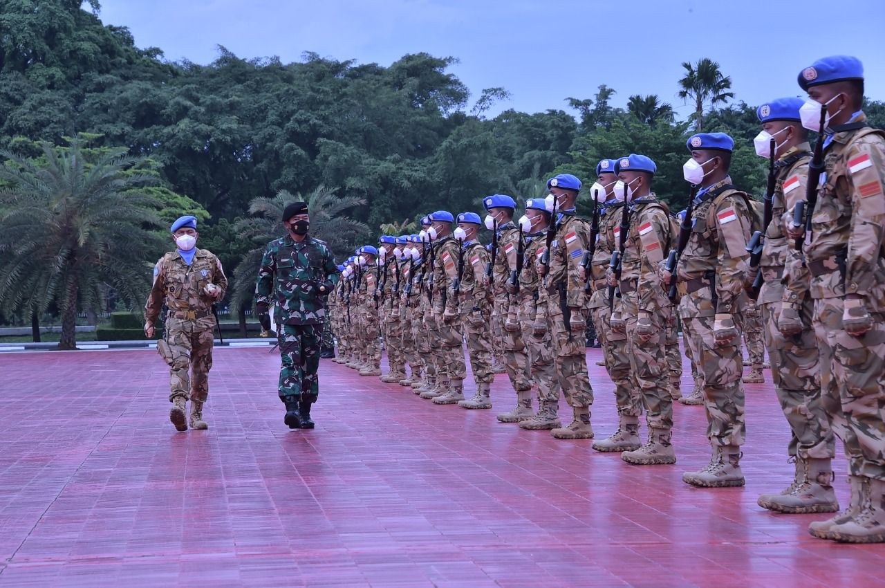
[{"label": "walking man in blue beret and desert camouflage, left of green-uniformed officer", "polygon": [[144,334],[154,337],[154,322],[165,304],[165,333],[157,351],[170,369],[173,407],[169,420],[179,431],[188,430],[188,422],[191,429],[208,429],[203,406],[209,395],[216,324],[212,305],[224,298],[227,277],[212,251],[196,247],[196,217],[180,217],[170,232],[175,251],[166,253],[154,267],[154,282],[144,305]]}]

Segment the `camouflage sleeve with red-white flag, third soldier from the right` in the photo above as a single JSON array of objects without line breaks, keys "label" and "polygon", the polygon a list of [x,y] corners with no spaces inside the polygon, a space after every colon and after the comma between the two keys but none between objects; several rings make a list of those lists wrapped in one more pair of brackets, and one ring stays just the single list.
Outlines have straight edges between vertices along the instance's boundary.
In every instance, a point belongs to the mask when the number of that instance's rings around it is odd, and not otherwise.
[{"label": "camouflage sleeve with red-white flag, third soldier from the right", "polygon": [[743,197],[735,195],[720,201],[714,207],[716,230],[719,236],[719,255],[716,268],[717,313],[735,313],[737,299],[743,293],[747,275],[747,241],[750,238],[750,211]]}]

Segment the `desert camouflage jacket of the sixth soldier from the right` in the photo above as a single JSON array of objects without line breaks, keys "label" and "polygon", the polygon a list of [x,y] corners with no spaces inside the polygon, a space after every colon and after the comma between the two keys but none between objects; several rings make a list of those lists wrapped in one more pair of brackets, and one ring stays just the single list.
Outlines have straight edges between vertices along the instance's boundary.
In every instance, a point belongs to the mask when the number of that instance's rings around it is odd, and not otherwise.
[{"label": "desert camouflage jacket of the sixth soldier from the right", "polygon": [[584,294],[584,281],[579,273],[581,258],[589,249],[590,223],[562,213],[558,221],[556,240],[550,249],[550,270],[547,276],[547,293],[557,299],[556,290],[564,288],[566,306],[581,310],[587,309],[588,297]]}]

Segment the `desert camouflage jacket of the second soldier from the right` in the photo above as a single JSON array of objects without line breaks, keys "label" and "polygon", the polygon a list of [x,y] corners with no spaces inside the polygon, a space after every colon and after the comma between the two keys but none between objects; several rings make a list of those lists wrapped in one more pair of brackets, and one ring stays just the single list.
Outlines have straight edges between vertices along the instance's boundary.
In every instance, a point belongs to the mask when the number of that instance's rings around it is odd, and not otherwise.
[{"label": "desert camouflage jacket of the second soldier from the right", "polygon": [[[810,277],[801,252],[796,251],[794,240],[787,235],[787,224],[793,222],[793,208],[797,201],[805,197],[810,156],[809,144],[802,143],[774,162],[776,180],[772,221],[766,228],[762,259],[759,260],[762,288],[757,302],[760,305],[780,303],[785,294],[789,299],[798,301],[808,291]],[[790,290],[790,293],[785,290]]]}]

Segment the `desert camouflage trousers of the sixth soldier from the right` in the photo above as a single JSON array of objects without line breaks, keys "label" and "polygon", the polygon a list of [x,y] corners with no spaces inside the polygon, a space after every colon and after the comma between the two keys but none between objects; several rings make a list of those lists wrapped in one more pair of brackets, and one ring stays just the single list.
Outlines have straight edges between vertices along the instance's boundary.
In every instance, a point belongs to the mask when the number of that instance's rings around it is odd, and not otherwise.
[{"label": "desert camouflage trousers of the sixth soldier from the right", "polygon": [[[584,311],[586,312],[586,311]],[[556,350],[556,373],[569,406],[593,404],[593,388],[587,375],[587,333],[585,329],[570,329],[559,307],[558,294],[547,305],[547,321]]]}]

